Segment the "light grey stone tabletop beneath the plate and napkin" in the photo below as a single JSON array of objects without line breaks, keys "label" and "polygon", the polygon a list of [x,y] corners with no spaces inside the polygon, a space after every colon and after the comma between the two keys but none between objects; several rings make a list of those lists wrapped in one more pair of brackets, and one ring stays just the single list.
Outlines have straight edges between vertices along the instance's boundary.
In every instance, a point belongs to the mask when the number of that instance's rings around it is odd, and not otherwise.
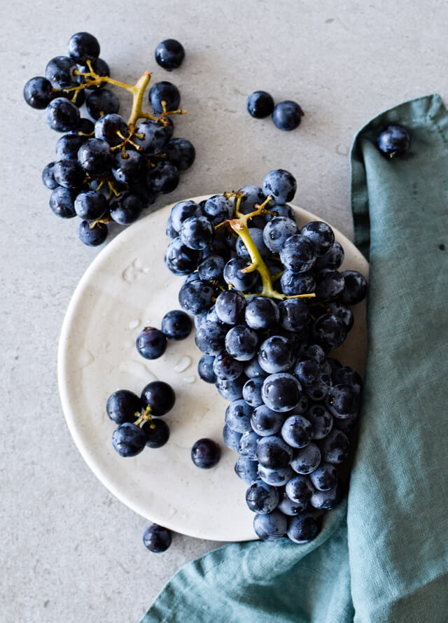
[{"label": "light grey stone tabletop beneath the plate and napkin", "polygon": [[[66,53],[73,32],[91,31],[113,77],[134,82],[148,70],[181,90],[188,116],[176,136],[193,141],[197,160],[166,202],[260,183],[283,167],[297,177],[295,203],[351,237],[353,134],[406,99],[447,96],[448,5],[109,0],[99,9],[19,0],[1,13],[0,621],[133,623],[183,563],[220,544],[176,535],[165,554],[147,552],[147,521],[104,489],[71,440],[57,340],[98,251],[78,242],[75,219],[48,208],[41,170],[58,136],[25,105],[23,85]],[[167,37],[186,48],[173,73],[153,59]],[[248,116],[246,97],[257,89],[299,102],[300,128],[281,132]]]}]

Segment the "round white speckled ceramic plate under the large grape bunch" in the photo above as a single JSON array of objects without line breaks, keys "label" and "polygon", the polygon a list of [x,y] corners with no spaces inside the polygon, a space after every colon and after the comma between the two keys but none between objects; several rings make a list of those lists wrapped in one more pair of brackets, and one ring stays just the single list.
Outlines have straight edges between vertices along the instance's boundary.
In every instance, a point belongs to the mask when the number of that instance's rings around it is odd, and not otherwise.
[{"label": "round white speckled ceramic plate under the large grape bunch", "polygon": [[[183,277],[171,274],[164,264],[169,242],[165,223],[172,205],[121,232],[78,283],[59,340],[62,407],[87,465],[132,510],[197,538],[252,540],[253,513],[244,499],[246,484],[233,471],[237,454],[222,441],[228,402],[214,385],[198,377],[201,353],[194,335],[183,342],[169,342],[165,355],[152,361],[142,358],[135,348],[144,326],[160,327],[167,311],[180,309],[177,297]],[[299,225],[318,220],[302,209],[295,212]],[[342,269],[356,269],[367,276],[363,255],[337,230],[335,235],[345,251]],[[353,311],[353,329],[336,356],[362,373],[365,303]],[[174,409],[165,416],[171,430],[169,442],[159,449],[145,448],[134,458],[122,458],[112,447],[116,424],[106,415],[106,400],[117,389],[140,394],[155,379],[169,382],[176,393]],[[200,437],[221,444],[221,461],[211,470],[200,470],[191,461],[190,449]]]}]

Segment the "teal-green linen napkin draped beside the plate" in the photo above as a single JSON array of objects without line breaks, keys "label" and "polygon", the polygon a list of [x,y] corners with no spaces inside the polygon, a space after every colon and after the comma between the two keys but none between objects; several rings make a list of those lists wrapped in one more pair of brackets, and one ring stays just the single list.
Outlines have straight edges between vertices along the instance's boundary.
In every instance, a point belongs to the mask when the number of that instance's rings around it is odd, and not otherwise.
[{"label": "teal-green linen napkin draped beside the plate", "polygon": [[[412,134],[384,158],[387,123]],[[176,573],[141,623],[447,623],[448,112],[382,113],[351,151],[370,257],[369,349],[348,499],[316,540],[226,545]]]}]

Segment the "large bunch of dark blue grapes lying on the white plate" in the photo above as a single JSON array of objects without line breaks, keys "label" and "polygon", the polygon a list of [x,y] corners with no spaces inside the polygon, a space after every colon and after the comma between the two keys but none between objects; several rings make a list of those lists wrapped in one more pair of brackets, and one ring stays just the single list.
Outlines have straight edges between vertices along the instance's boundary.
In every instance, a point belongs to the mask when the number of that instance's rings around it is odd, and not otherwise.
[{"label": "large bunch of dark blue grapes lying on the white plate", "polygon": [[367,283],[339,271],[329,225],[297,227],[295,190],[276,169],[261,188],[177,203],[165,263],[185,277],[179,302],[195,316],[200,377],[230,401],[223,438],[239,452],[255,533],[307,542],[342,498],[362,381],[330,355]]}]

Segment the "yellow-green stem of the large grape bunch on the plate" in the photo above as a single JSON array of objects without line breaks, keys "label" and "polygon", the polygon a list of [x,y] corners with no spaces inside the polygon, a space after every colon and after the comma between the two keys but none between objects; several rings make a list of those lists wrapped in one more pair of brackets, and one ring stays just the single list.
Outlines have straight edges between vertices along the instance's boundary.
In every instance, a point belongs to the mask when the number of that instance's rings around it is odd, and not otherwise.
[{"label": "yellow-green stem of the large grape bunch on the plate", "polygon": [[258,270],[258,272],[260,273],[263,287],[258,295],[267,296],[269,298],[275,298],[279,300],[285,300],[287,298],[314,298],[316,296],[314,293],[287,296],[286,294],[277,292],[277,290],[275,290],[272,286],[271,274],[269,273],[269,270],[267,269],[267,266],[265,265],[265,262],[260,255],[260,251],[258,251],[258,248],[255,246],[253,239],[251,238],[251,235],[249,233],[249,228],[247,225],[248,220],[250,218],[253,218],[254,216],[259,216],[260,214],[266,214],[268,210],[265,207],[269,204],[269,202],[274,199],[274,197],[271,197],[269,195],[269,197],[267,197],[267,199],[262,202],[262,204],[255,204],[256,209],[250,214],[241,214],[241,212],[239,211],[239,206],[241,204],[242,198],[244,197],[244,193],[226,193],[226,196],[228,196],[228,198],[230,196],[237,197],[235,205],[235,214],[237,215],[237,218],[232,218],[230,221],[228,221],[228,223],[232,230],[237,235],[239,235],[239,237],[243,241],[243,244],[246,247],[247,252],[251,258],[251,263],[246,266],[246,268],[242,269],[241,272],[253,272],[254,270]]}]

